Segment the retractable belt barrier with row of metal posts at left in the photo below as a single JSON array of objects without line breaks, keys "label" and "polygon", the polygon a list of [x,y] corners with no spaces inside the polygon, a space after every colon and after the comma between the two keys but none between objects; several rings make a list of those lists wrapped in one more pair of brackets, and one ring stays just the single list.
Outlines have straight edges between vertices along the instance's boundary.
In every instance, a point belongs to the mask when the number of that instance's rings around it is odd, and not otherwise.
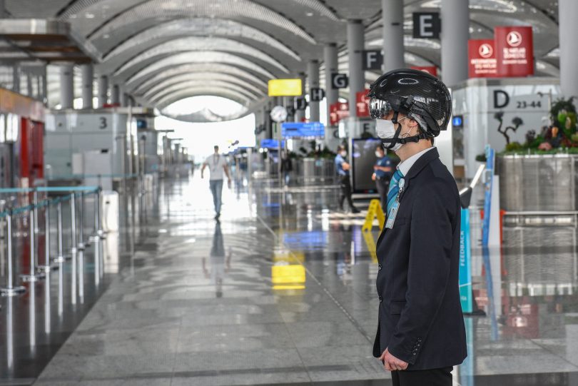
[{"label": "retractable belt barrier with row of metal posts at left", "polygon": [[[15,194],[15,193],[34,193],[34,202],[29,205],[23,205],[16,208],[5,208],[0,211],[0,219],[4,219],[6,223],[6,258],[7,262],[7,279],[6,287],[0,288],[1,295],[13,296],[23,293],[25,288],[14,283],[14,253],[12,243],[12,220],[24,213],[29,213],[29,244],[30,244],[30,272],[21,275],[21,280],[27,282],[35,282],[44,278],[46,273],[52,269],[51,253],[50,253],[50,208],[56,206],[56,213],[58,215],[57,238],[58,238],[58,256],[52,259],[53,263],[63,263],[66,260],[64,256],[63,247],[63,229],[62,229],[62,203],[70,201],[70,220],[71,220],[71,255],[74,255],[78,250],[86,248],[86,243],[83,234],[83,212],[84,212],[84,198],[87,195],[95,195],[94,204],[94,233],[91,240],[96,241],[104,237],[104,232],[101,224],[101,188],[98,186],[39,186],[36,188],[0,188],[0,195]],[[46,198],[38,200],[37,193],[69,193],[59,195],[55,198]],[[78,218],[80,226],[78,226],[77,234],[77,218],[76,205],[77,200],[80,199],[78,210]],[[44,265],[39,265],[36,261],[36,234],[39,233],[38,210],[44,208],[44,235],[45,235],[45,261]],[[72,256],[70,256],[72,257]]]}]

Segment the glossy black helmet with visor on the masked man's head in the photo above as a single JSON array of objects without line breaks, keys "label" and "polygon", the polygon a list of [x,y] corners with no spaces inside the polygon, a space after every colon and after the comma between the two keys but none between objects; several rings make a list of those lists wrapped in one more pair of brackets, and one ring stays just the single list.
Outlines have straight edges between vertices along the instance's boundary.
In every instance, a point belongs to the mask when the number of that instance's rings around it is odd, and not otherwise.
[{"label": "glossy black helmet with visor on the masked man's head", "polygon": [[452,115],[450,91],[440,79],[425,71],[400,68],[385,73],[372,83],[367,96],[372,118],[382,118],[394,111],[392,121],[397,123],[397,114],[403,113],[420,123],[420,127],[425,123],[427,127],[421,128],[427,137],[439,136],[440,131],[446,130]]}]

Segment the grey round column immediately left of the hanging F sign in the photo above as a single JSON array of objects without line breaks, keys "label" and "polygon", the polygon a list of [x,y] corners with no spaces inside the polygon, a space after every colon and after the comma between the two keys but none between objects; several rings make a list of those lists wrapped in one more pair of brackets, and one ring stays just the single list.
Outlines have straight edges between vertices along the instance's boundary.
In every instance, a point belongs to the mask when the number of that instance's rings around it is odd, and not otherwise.
[{"label": "grey round column immediately left of the hanging F sign", "polygon": [[365,46],[363,24],[360,20],[348,21],[349,53],[349,116],[355,118],[355,94],[365,89],[365,73],[362,68],[362,51]]}]

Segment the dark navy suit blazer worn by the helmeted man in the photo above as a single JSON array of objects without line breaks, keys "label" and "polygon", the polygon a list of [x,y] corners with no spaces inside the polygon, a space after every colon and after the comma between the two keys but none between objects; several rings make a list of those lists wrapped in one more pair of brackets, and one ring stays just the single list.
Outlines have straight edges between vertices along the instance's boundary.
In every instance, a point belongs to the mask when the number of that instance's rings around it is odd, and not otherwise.
[{"label": "dark navy suit blazer worn by the helmeted man", "polygon": [[405,176],[392,229],[377,240],[379,322],[373,355],[387,348],[407,370],[459,365],[467,356],[460,305],[460,193],[437,149]]}]

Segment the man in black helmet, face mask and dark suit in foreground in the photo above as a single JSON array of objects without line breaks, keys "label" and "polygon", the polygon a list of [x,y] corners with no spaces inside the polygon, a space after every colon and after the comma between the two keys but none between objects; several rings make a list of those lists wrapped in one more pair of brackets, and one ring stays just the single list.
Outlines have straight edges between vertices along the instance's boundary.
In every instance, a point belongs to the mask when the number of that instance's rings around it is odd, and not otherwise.
[{"label": "man in black helmet, face mask and dark suit in foreground", "polygon": [[373,355],[394,386],[451,386],[467,356],[460,305],[460,196],[433,138],[447,128],[447,87],[422,71],[385,73],[370,89],[377,135],[401,163],[377,240],[379,322]]}]

